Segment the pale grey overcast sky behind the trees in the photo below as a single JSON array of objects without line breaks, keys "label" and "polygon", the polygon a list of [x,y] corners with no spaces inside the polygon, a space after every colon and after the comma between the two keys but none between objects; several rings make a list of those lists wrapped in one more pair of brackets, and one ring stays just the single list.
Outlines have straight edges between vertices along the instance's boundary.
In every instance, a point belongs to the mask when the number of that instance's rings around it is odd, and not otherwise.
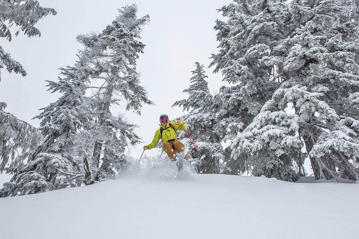
[{"label": "pale grey overcast sky behind the trees", "polygon": [[[148,97],[156,105],[144,105],[141,116],[113,108],[113,115],[119,111],[139,128],[136,133],[144,143],[131,150],[139,158],[144,144],[151,143],[159,128],[159,116],[167,114],[170,119],[184,115],[182,108],[171,107],[176,100],[185,99],[182,91],[190,85],[191,71],[196,61],[206,66],[211,92],[223,85],[221,74],[212,74],[211,53],[217,53],[214,21],[222,18],[216,9],[228,5],[230,0],[182,0],[182,1],[130,1],[130,0],[39,0],[43,7],[54,8],[55,16],[41,19],[36,27],[41,37],[28,38],[22,33],[11,42],[0,39],[5,51],[19,61],[27,76],[1,71],[0,100],[8,104],[5,111],[38,127],[39,120],[31,120],[41,113],[38,109],[57,100],[59,95],[47,92],[45,80],[56,80],[59,67],[72,66],[76,61],[76,35],[101,32],[111,24],[118,14],[117,9],[136,3],[137,17],[150,15],[150,22],[141,34],[146,44],[144,54],[137,61],[141,72],[141,85],[148,90]],[[12,29],[12,34],[17,29]],[[146,151],[151,153],[150,150]]]}]

